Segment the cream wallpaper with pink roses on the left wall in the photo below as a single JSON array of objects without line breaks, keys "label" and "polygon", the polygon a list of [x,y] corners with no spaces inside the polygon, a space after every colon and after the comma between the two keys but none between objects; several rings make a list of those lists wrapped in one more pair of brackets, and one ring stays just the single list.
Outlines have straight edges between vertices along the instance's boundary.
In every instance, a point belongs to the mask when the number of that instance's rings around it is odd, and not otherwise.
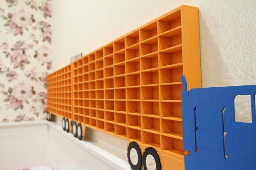
[{"label": "cream wallpaper with pink roses on the left wall", "polygon": [[46,118],[50,0],[0,0],[0,122]]}]

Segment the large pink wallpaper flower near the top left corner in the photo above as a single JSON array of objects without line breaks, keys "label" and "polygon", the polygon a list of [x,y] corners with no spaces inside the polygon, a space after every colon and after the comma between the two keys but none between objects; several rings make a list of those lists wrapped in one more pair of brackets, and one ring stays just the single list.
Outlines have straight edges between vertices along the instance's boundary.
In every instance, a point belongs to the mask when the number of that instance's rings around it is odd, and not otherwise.
[{"label": "large pink wallpaper flower near the top left corner", "polygon": [[12,21],[15,22],[18,26],[25,28],[31,26],[33,22],[31,14],[23,9],[13,13]]}]

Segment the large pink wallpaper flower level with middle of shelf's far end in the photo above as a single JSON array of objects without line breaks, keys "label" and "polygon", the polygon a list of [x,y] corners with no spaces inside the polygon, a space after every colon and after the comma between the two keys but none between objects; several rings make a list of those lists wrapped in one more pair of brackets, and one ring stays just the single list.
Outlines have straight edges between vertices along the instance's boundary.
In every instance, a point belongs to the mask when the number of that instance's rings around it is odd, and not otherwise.
[{"label": "large pink wallpaper flower level with middle of shelf's far end", "polygon": [[33,95],[32,87],[25,83],[19,83],[19,85],[14,85],[12,95],[19,100],[28,101]]}]

